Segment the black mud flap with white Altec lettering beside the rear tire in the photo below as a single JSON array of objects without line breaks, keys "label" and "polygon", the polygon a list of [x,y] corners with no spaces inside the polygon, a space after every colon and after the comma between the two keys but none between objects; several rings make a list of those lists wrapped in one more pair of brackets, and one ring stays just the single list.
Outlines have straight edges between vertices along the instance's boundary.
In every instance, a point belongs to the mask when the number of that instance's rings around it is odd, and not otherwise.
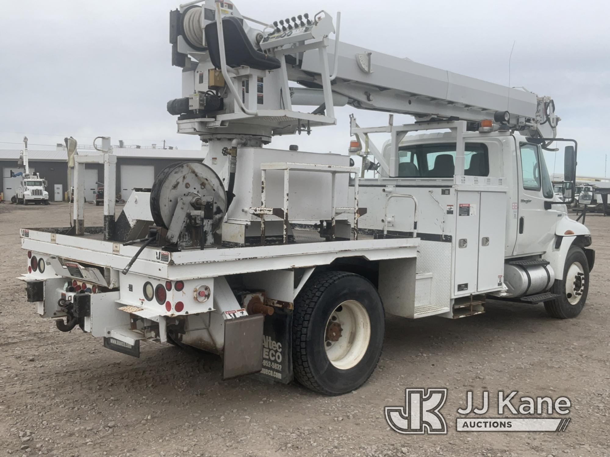
[{"label": "black mud flap with white Altec lettering beside the rear tire", "polygon": [[290,383],[293,380],[292,310],[274,308],[273,315],[265,316],[263,333],[263,369],[254,377]]}]

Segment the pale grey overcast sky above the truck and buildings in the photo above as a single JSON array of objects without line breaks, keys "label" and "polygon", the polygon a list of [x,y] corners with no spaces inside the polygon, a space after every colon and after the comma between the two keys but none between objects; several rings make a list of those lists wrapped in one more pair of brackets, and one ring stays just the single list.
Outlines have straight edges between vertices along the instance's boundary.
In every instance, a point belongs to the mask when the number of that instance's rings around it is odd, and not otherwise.
[{"label": "pale grey overcast sky above the truck and buildings", "polygon": [[[184,1],[184,0],[183,0]],[[2,1],[0,14],[0,149],[31,149],[74,136],[127,144],[199,149],[178,135],[165,110],[181,95],[171,66],[168,0]],[[467,76],[550,95],[559,136],[579,142],[579,175],[603,176],[610,116],[610,3],[606,1],[466,2],[386,0],[243,0],[242,14],[264,21],[325,9],[342,12],[341,41],[409,57]],[[374,7],[374,8],[373,8]],[[336,109],[336,127],[274,140],[300,149],[346,153],[348,116],[382,125],[387,115]],[[409,121],[407,116],[401,120]],[[18,144],[10,144],[18,143]],[[553,171],[553,155],[547,155]],[[562,155],[557,156],[561,172]],[[610,169],[608,170],[610,175]]]}]

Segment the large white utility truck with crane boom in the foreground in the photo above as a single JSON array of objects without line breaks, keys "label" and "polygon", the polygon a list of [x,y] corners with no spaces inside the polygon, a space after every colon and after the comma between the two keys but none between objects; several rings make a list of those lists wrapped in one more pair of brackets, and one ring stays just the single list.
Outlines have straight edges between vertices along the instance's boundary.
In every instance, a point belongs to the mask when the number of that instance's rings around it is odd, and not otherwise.
[{"label": "large white utility truck with crane boom in the foreground", "polygon": [[[556,138],[550,97],[341,43],[339,24],[323,11],[268,24],[214,0],[171,12],[182,95],[167,108],[209,151],[135,190],[116,220],[109,138],[75,157],[72,226],[21,229],[38,313],[118,352],[191,346],[220,354],[224,378],[328,395],[371,375],[386,314],[456,319],[500,299],[578,316],[595,257],[567,216],[577,145]],[[336,105],[415,116],[351,119],[375,177],[348,155],[268,146],[336,124]],[[555,141],[569,144],[565,202],[544,161]],[[104,165],[103,227],[85,225],[86,163]]]}]

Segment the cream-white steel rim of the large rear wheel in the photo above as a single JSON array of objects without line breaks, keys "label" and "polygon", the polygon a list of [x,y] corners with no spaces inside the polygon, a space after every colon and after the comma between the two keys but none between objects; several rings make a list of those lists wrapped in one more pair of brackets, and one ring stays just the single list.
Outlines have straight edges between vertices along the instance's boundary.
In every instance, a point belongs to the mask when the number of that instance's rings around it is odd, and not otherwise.
[{"label": "cream-white steel rim of the large rear wheel", "polygon": [[323,338],[332,366],[340,370],[356,366],[367,352],[371,339],[371,321],[362,303],[346,300],[337,306],[326,322]]}]

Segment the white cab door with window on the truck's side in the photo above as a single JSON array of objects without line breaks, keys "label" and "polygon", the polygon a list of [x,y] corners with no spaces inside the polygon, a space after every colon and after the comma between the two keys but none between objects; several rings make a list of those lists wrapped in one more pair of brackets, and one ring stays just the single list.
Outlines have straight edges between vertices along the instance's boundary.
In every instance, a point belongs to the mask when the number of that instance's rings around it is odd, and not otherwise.
[{"label": "white cab door with window on the truck's side", "polygon": [[553,185],[548,176],[544,155],[537,144],[519,143],[517,151],[519,201],[517,243],[513,255],[546,252],[553,241],[555,225],[561,213],[557,205],[544,208],[553,201]]}]

